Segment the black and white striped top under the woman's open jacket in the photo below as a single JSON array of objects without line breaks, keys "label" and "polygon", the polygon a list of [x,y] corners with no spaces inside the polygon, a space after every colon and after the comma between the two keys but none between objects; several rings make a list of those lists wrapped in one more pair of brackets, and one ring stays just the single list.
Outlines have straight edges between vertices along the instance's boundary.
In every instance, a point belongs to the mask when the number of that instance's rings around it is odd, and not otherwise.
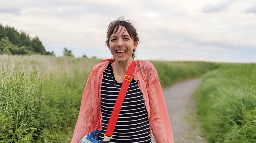
[{"label": "black and white striped top under the woman's open jacket", "polygon": [[[103,139],[122,83],[113,74],[111,62],[103,73],[101,84],[102,130]],[[138,81],[132,80],[125,95],[122,108],[110,143],[151,143],[148,112]]]}]

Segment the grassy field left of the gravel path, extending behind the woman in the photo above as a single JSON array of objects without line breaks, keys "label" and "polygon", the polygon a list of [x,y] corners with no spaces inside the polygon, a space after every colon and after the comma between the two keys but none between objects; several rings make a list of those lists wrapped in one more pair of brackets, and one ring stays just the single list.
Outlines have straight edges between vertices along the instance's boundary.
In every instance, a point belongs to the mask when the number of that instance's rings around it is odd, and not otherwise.
[{"label": "grassy field left of the gravel path, extending behind the woman", "polygon": [[[0,55],[0,143],[70,142],[84,86],[99,59]],[[152,61],[163,87],[219,64]]]}]

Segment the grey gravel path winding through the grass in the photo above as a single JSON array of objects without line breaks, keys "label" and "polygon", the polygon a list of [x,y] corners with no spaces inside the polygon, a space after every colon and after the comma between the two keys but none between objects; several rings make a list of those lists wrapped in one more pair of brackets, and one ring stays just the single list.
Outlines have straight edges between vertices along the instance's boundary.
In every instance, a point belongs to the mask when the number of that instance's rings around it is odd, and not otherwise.
[{"label": "grey gravel path winding through the grass", "polygon": [[[174,143],[203,143],[196,121],[195,101],[191,97],[201,79],[193,79],[164,89],[164,98],[173,132]],[[152,143],[155,143],[152,137]]]}]

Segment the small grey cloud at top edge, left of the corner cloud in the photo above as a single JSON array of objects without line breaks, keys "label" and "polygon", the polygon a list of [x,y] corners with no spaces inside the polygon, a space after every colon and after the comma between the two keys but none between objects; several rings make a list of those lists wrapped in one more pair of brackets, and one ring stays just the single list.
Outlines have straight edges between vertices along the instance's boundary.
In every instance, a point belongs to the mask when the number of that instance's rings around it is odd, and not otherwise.
[{"label": "small grey cloud at top edge, left of the corner cloud", "polygon": [[236,0],[222,0],[215,5],[207,4],[202,7],[202,13],[214,13],[214,12],[221,12],[225,11],[229,8],[229,6],[234,3]]}]

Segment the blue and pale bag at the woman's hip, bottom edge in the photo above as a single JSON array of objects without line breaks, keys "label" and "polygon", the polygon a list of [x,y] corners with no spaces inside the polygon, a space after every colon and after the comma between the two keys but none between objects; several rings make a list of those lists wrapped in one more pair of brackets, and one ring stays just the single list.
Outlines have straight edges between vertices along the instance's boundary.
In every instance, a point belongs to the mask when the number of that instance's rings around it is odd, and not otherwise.
[{"label": "blue and pale bag at the woman's hip, bottom edge", "polygon": [[85,135],[79,143],[101,143],[103,140],[98,141],[100,131],[96,130]]}]

